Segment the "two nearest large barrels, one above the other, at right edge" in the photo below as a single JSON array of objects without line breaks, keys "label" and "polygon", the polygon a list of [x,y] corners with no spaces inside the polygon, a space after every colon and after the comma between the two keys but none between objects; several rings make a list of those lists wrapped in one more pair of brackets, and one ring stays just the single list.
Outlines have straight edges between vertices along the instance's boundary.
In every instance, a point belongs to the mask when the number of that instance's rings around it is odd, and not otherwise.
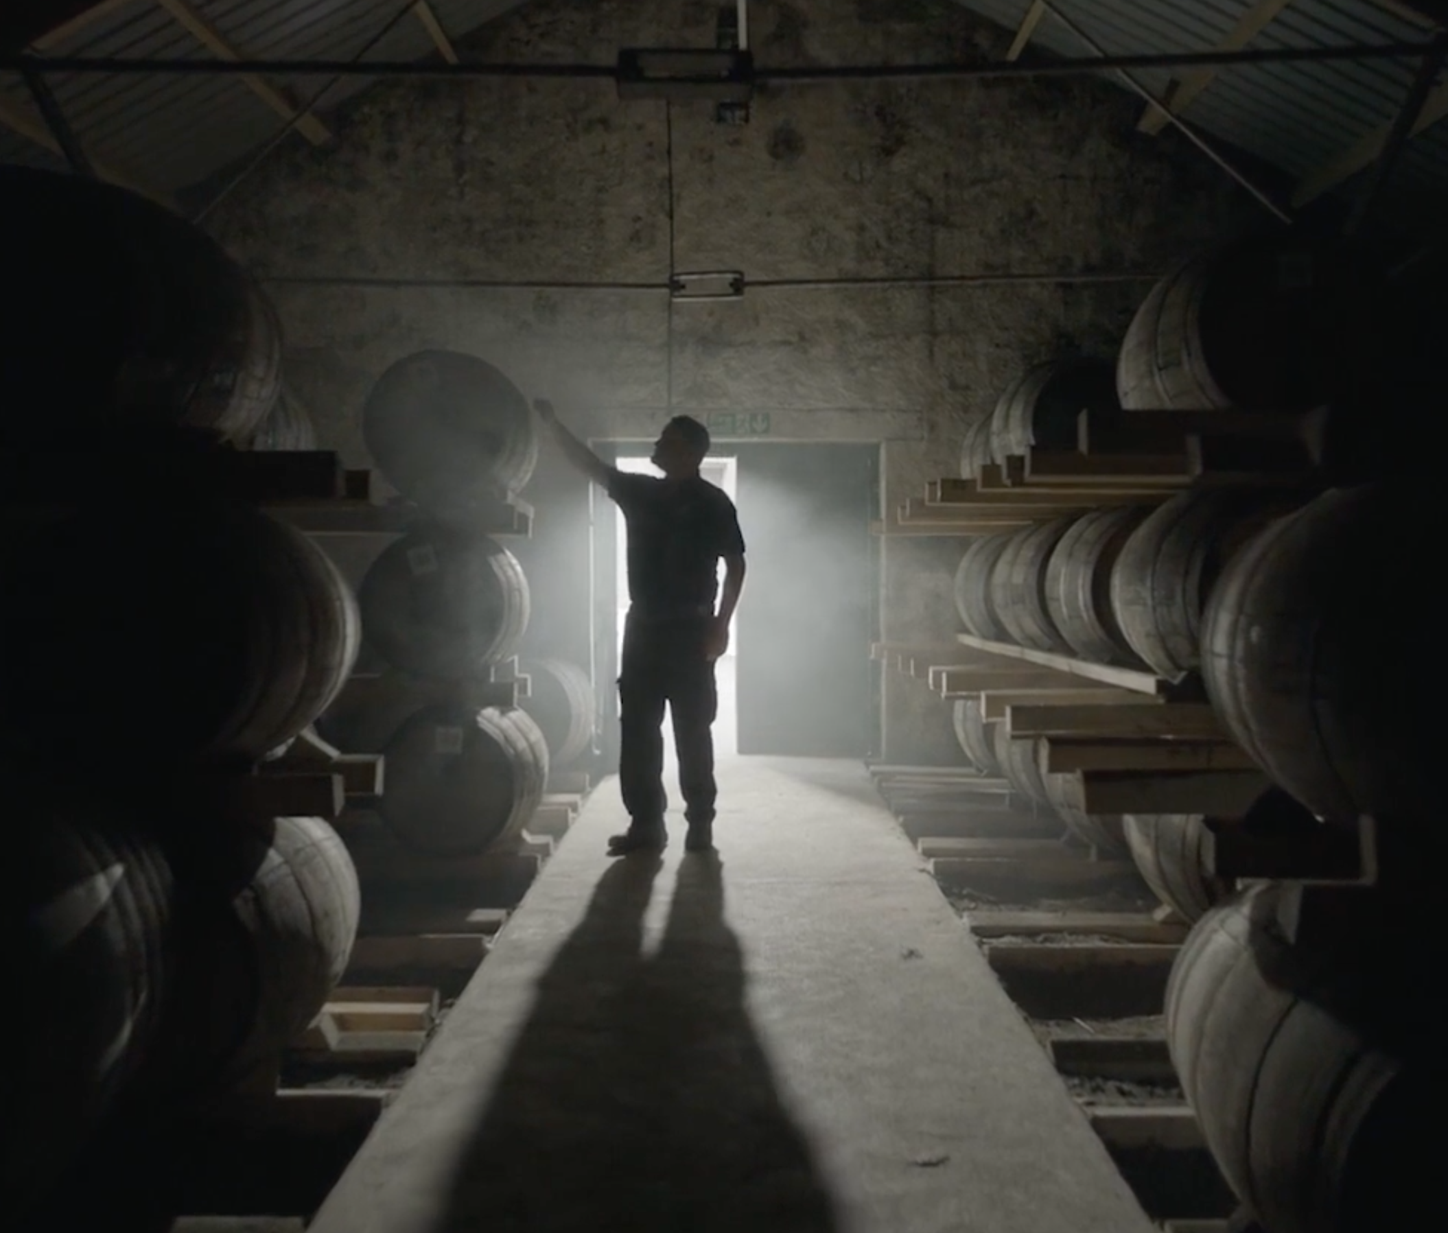
[{"label": "two nearest large barrels, one above the other, at right edge", "polygon": [[1319,831],[1376,831],[1374,886],[1234,896],[1173,974],[1183,1087],[1270,1230],[1402,1223],[1445,1145],[1425,1103],[1448,1090],[1428,1009],[1448,842],[1432,771],[1441,588],[1425,567],[1445,530],[1419,488],[1329,489],[1264,528],[1208,603],[1202,671],[1232,735]]}]

